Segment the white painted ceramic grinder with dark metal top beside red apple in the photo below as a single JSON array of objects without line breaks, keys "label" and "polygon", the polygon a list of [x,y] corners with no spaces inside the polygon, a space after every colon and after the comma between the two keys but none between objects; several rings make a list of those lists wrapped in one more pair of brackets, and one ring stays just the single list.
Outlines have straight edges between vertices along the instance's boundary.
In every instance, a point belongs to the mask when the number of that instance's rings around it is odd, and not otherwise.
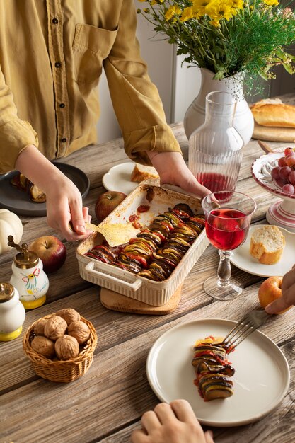
[{"label": "white painted ceramic grinder with dark metal top beside red apple", "polygon": [[48,277],[43,271],[42,260],[33,251],[28,251],[27,243],[21,246],[8,236],[8,246],[16,248],[18,254],[12,263],[10,282],[18,289],[20,300],[25,309],[35,309],[46,301],[49,287]]}]

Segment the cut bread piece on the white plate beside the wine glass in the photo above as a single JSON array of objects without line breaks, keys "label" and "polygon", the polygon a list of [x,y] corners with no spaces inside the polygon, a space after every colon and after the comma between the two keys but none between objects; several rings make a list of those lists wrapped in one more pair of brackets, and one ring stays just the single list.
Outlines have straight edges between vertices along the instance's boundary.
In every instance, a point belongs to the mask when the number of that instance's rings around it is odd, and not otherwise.
[{"label": "cut bread piece on the white plate beside the wine glass", "polygon": [[286,244],[282,231],[277,226],[268,225],[255,229],[250,238],[250,254],[264,265],[277,263]]}]

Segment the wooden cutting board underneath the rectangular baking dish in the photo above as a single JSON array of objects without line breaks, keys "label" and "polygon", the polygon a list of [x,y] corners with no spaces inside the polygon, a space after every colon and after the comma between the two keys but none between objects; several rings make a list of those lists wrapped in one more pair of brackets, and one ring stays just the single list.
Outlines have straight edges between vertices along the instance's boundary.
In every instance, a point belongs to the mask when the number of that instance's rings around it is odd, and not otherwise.
[{"label": "wooden cutting board underneath the rectangular baking dish", "polygon": [[163,304],[162,306],[151,306],[150,304],[131,299],[130,297],[110,291],[110,289],[106,289],[104,287],[100,289],[100,301],[105,308],[110,309],[111,311],[145,313],[151,316],[163,316],[177,308],[180,302],[181,289],[182,285],[177,289],[173,296],[170,297],[168,303]]}]

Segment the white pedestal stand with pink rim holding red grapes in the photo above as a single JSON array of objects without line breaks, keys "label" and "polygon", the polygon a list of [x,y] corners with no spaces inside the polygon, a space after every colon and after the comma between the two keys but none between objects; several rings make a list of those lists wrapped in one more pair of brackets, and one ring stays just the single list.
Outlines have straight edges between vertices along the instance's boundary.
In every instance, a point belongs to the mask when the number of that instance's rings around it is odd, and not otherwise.
[{"label": "white pedestal stand with pink rim holding red grapes", "polygon": [[295,232],[295,194],[282,191],[276,180],[272,179],[272,169],[278,166],[278,160],[283,152],[265,154],[256,159],[251,166],[251,173],[258,185],[282,200],[271,205],[266,214],[267,222]]}]

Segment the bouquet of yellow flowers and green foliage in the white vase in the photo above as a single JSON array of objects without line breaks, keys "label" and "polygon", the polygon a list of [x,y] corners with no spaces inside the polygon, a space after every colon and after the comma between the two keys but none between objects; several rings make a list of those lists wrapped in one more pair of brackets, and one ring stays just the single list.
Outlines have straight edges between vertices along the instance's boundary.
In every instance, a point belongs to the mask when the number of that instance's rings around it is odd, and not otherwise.
[{"label": "bouquet of yellow flowers and green foliage in the white vase", "polygon": [[[143,2],[144,0],[139,0]],[[176,44],[190,66],[205,67],[215,79],[243,73],[272,79],[274,67],[295,71],[295,16],[277,0],[146,0],[138,9],[156,34]]]}]

